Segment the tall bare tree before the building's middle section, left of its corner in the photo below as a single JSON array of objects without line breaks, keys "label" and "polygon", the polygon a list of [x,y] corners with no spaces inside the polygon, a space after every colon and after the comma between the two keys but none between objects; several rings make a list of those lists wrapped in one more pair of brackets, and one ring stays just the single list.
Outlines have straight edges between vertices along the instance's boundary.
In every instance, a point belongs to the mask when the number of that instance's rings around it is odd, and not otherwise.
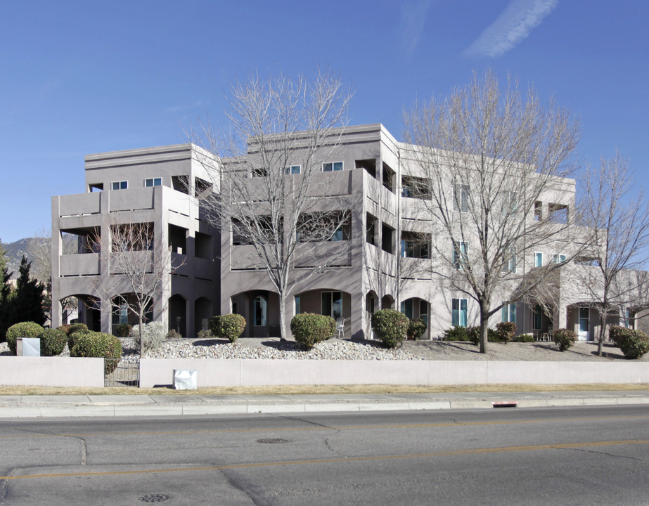
[{"label": "tall bare tree before the building's middle section, left of its corner", "polygon": [[[288,335],[285,302],[293,287],[343,254],[323,255],[319,245],[349,239],[349,203],[322,195],[330,195],[326,172],[339,169],[332,155],[351,97],[328,72],[312,82],[283,74],[262,81],[255,75],[232,86],[228,140],[203,129],[207,150],[228,157],[220,197],[206,205],[234,244],[254,247],[278,294],[281,337]],[[305,259],[307,267],[300,262]]]}]

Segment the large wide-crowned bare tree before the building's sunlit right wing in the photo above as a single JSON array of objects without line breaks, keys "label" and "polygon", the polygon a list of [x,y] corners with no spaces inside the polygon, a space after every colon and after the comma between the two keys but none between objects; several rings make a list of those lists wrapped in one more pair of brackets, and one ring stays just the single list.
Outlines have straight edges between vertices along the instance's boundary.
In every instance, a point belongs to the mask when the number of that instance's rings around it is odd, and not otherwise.
[{"label": "large wide-crowned bare tree before the building's sunlit right wing", "polygon": [[415,103],[404,122],[406,141],[416,145],[406,156],[427,197],[433,271],[477,303],[485,353],[489,317],[503,300],[523,299],[577,254],[525,280],[526,257],[574,231],[571,181],[563,177],[572,168],[578,122],[554,100],[542,106],[533,89],[522,96],[514,79],[501,89],[493,70],[474,73],[444,100]]}]

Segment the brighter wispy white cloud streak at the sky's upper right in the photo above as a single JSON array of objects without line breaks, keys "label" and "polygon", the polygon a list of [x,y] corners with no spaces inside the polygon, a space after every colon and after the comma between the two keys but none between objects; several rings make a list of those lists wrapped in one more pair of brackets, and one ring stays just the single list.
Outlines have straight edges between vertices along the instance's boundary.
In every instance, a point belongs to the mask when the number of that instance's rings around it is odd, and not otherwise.
[{"label": "brighter wispy white cloud streak at the sky's upper right", "polygon": [[466,51],[467,56],[498,58],[524,40],[559,0],[513,0]]}]

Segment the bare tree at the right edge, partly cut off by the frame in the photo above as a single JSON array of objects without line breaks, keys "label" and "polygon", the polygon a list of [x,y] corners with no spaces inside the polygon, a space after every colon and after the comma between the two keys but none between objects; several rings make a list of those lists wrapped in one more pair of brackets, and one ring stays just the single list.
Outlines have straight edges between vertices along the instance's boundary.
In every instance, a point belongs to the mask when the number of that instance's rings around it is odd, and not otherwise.
[{"label": "bare tree at the right edge, partly cut off by the frame", "polygon": [[643,191],[632,195],[635,181],[629,160],[615,153],[602,159],[599,169],[587,167],[582,178],[581,209],[596,245],[592,254],[577,262],[574,274],[600,316],[597,353],[602,354],[608,316],[624,306],[638,304],[649,246],[649,205]]}]

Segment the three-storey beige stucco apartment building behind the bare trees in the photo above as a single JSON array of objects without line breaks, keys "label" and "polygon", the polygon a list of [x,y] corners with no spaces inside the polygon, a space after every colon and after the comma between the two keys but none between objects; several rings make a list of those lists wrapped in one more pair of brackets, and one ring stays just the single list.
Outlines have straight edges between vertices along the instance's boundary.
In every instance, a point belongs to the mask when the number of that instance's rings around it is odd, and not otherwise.
[{"label": "three-storey beige stucco apartment building behind the bare trees", "polygon": [[[323,208],[349,215],[344,233],[319,245],[316,257],[335,257],[335,265],[311,272],[298,282],[285,306],[287,320],[295,313],[323,313],[345,318],[345,337],[371,338],[371,314],[399,309],[427,323],[425,338],[442,335],[451,325],[475,325],[475,303],[454,292],[435,274],[430,216],[419,195],[420,177],[413,160],[416,148],[400,143],[381,124],[349,126],[331,160],[322,164],[318,188]],[[133,316],[100,301],[96,285],[110,276],[110,265],[89,248],[89,236],[110,235],[115,223],[153,223],[154,243],[172,249],[174,269],[153,304],[150,318],[168,322],[184,336],[195,337],[207,318],[239,313],[247,322],[244,337],[279,335],[279,299],[254,247],[233,237],[228,226],[210,224],[202,201],[219,193],[219,171],[233,160],[216,160],[195,145],[101,153],[86,157],[85,192],[52,200],[53,325],[61,323],[60,301],[77,297],[79,320],[105,332]],[[226,167],[224,169],[224,167]],[[295,170],[299,177],[299,168]],[[255,174],[242,174],[254,181]],[[555,191],[538,202],[530,219],[553,209],[570,213],[575,182],[558,179]],[[61,234],[79,238],[77,254],[61,254]],[[517,259],[520,273],[569,254],[571,238],[555,240],[546,250]],[[451,247],[451,245],[449,245]],[[312,255],[298,259],[300,269],[318,264]],[[311,269],[312,271],[312,269]],[[569,327],[580,339],[595,338],[597,311],[574,292],[565,278],[555,290],[552,311],[525,302],[507,304],[490,325],[515,321],[518,332],[541,334]],[[570,288],[570,290],[569,290]],[[498,294],[508,300],[510,293]]]}]

